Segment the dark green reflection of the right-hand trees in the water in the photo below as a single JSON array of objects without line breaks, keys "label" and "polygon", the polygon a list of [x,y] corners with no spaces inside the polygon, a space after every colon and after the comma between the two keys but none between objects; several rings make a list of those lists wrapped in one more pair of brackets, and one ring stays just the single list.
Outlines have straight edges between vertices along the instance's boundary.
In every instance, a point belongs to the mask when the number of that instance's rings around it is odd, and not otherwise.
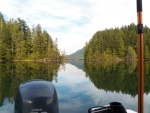
[{"label": "dark green reflection of the right-hand trees in the water", "polygon": [[[86,76],[98,89],[122,92],[135,97],[138,94],[137,62],[85,62]],[[150,63],[145,62],[144,92],[149,94]]]}]

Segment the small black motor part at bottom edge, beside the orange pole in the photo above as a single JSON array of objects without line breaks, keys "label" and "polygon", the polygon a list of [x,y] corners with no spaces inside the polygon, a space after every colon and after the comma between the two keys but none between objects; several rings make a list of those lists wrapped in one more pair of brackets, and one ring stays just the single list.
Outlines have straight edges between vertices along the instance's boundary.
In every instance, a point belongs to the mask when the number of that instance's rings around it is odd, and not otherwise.
[{"label": "small black motor part at bottom edge, beside the orange pole", "polygon": [[88,113],[127,113],[119,102],[111,102],[106,106],[97,106],[88,109]]}]

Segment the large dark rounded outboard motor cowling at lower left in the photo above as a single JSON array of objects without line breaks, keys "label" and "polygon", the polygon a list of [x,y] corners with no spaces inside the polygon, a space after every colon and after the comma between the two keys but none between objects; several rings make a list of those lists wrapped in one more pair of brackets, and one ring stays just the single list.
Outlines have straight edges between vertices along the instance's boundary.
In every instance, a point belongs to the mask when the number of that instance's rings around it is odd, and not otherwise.
[{"label": "large dark rounded outboard motor cowling at lower left", "polygon": [[54,85],[45,80],[31,80],[20,84],[15,113],[59,113]]}]

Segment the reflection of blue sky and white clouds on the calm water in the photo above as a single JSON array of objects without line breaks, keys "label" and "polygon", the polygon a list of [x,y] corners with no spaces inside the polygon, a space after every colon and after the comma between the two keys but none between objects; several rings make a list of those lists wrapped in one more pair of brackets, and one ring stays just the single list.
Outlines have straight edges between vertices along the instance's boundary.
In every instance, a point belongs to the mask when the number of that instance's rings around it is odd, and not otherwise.
[{"label": "reflection of blue sky and white clouds on the calm water", "polygon": [[55,86],[60,113],[87,113],[91,106],[105,105],[113,101],[120,101],[126,108],[137,110],[137,96],[125,95],[121,91],[97,89],[82,69],[79,70],[71,64],[66,64],[66,70],[58,75]]}]

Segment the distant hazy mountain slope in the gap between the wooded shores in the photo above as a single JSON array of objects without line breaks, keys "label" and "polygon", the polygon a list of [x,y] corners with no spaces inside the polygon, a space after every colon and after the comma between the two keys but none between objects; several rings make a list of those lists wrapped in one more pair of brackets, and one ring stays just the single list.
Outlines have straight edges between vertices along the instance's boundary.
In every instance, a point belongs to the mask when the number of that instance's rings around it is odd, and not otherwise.
[{"label": "distant hazy mountain slope in the gap between the wooded shores", "polygon": [[73,59],[83,59],[84,58],[84,47],[82,49],[77,50],[75,53],[66,55],[67,58]]}]

